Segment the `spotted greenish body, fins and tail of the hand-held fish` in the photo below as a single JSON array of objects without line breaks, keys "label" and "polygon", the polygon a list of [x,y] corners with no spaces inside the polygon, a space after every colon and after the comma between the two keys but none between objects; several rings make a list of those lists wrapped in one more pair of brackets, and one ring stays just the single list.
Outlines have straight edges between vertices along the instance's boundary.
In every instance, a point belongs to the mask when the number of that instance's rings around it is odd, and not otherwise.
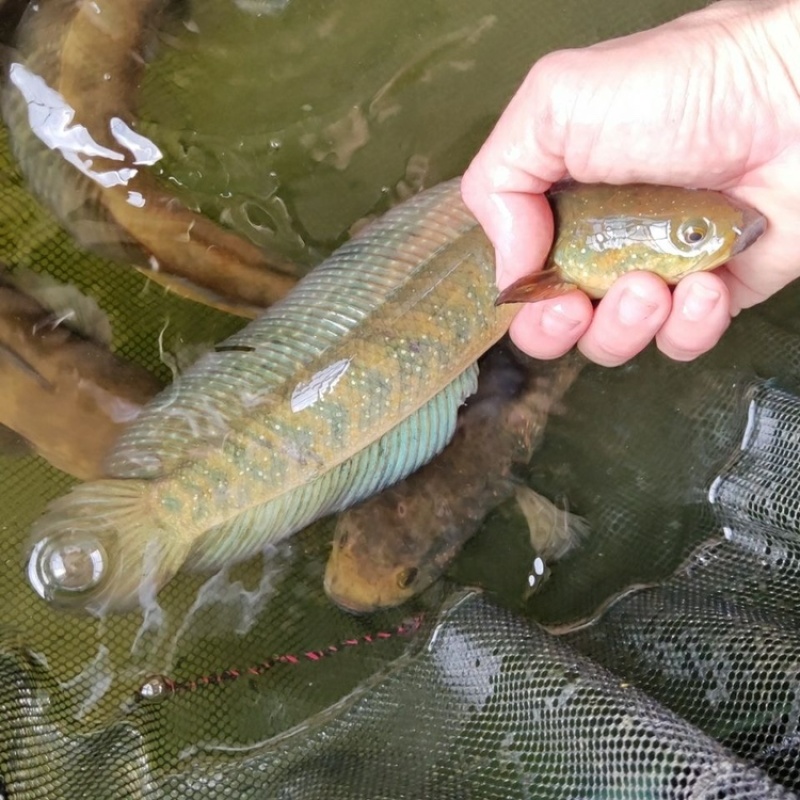
[{"label": "spotted greenish body, fins and tail of the hand-held fish", "polygon": [[397,206],[144,409],[115,480],[35,525],[31,583],[94,612],[146,602],[184,565],[243,559],[402,479],[452,437],[514,314],[496,298],[458,180]]}]

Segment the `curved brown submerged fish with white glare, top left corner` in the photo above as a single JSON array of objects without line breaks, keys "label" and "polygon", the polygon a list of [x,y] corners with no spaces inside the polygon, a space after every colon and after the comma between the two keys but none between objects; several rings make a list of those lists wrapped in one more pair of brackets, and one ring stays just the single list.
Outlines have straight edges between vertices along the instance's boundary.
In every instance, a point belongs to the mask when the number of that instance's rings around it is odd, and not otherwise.
[{"label": "curved brown submerged fish with white glare, top left corner", "polygon": [[17,32],[3,116],[34,193],[78,242],[173,291],[255,316],[294,267],[185,208],[149,172],[136,132],[144,52],[166,0],[31,3]]}]

